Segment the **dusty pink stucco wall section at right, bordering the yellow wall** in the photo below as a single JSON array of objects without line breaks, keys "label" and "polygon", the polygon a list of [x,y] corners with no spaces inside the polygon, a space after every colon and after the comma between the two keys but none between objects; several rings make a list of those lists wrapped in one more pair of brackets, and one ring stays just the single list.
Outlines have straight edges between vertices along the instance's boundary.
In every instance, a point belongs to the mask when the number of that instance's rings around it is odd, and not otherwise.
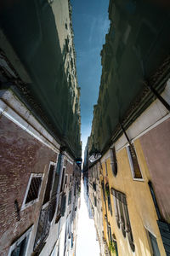
[{"label": "dusty pink stucco wall section at right, bordering the yellow wall", "polygon": [[170,223],[170,119],[140,137],[161,215]]}]

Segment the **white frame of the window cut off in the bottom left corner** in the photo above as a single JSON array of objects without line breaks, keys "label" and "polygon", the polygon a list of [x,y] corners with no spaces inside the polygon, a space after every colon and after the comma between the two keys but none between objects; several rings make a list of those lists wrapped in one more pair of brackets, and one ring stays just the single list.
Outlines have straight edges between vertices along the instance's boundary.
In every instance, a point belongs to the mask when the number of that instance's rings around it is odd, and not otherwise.
[{"label": "white frame of the window cut off in the bottom left corner", "polygon": [[8,256],[11,256],[11,253],[13,253],[14,248],[17,247],[18,244],[20,244],[21,241],[23,241],[27,236],[28,236],[28,241],[26,244],[26,255],[28,253],[28,248],[29,248],[29,244],[31,241],[31,231],[33,230],[34,225],[31,225],[31,227],[26,230],[26,232],[20,236],[16,241],[14,241],[14,243],[11,244],[11,246],[8,249]]}]

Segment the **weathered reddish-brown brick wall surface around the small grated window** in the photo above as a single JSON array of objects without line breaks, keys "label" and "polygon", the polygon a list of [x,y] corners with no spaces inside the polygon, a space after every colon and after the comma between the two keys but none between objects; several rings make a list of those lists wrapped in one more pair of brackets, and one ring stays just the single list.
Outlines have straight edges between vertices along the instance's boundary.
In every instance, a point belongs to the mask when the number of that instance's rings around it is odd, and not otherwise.
[{"label": "weathered reddish-brown brick wall surface around the small grated window", "polygon": [[[8,254],[8,247],[31,224],[37,222],[49,161],[57,154],[4,116],[0,117],[0,255]],[[14,206],[22,206],[29,177],[44,173],[40,199],[20,211],[20,221]]]}]

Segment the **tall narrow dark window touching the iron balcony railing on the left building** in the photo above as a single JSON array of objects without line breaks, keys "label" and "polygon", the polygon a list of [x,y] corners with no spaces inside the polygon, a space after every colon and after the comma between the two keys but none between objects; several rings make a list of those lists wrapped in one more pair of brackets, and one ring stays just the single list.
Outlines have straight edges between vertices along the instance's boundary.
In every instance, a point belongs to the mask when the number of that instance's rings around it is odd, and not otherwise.
[{"label": "tall narrow dark window touching the iron balcony railing on the left building", "polygon": [[50,164],[49,172],[48,172],[48,183],[46,185],[45,195],[43,198],[43,205],[46,204],[50,199],[53,180],[54,180],[54,164]]}]

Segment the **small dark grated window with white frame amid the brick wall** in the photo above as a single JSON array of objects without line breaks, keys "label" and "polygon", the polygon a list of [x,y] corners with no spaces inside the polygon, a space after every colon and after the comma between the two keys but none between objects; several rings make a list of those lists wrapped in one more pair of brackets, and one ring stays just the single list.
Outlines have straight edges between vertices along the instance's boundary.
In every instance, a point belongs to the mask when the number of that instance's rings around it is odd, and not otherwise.
[{"label": "small dark grated window with white frame amid the brick wall", "polygon": [[31,173],[21,210],[31,206],[34,202],[38,201],[41,184],[42,173]]}]

